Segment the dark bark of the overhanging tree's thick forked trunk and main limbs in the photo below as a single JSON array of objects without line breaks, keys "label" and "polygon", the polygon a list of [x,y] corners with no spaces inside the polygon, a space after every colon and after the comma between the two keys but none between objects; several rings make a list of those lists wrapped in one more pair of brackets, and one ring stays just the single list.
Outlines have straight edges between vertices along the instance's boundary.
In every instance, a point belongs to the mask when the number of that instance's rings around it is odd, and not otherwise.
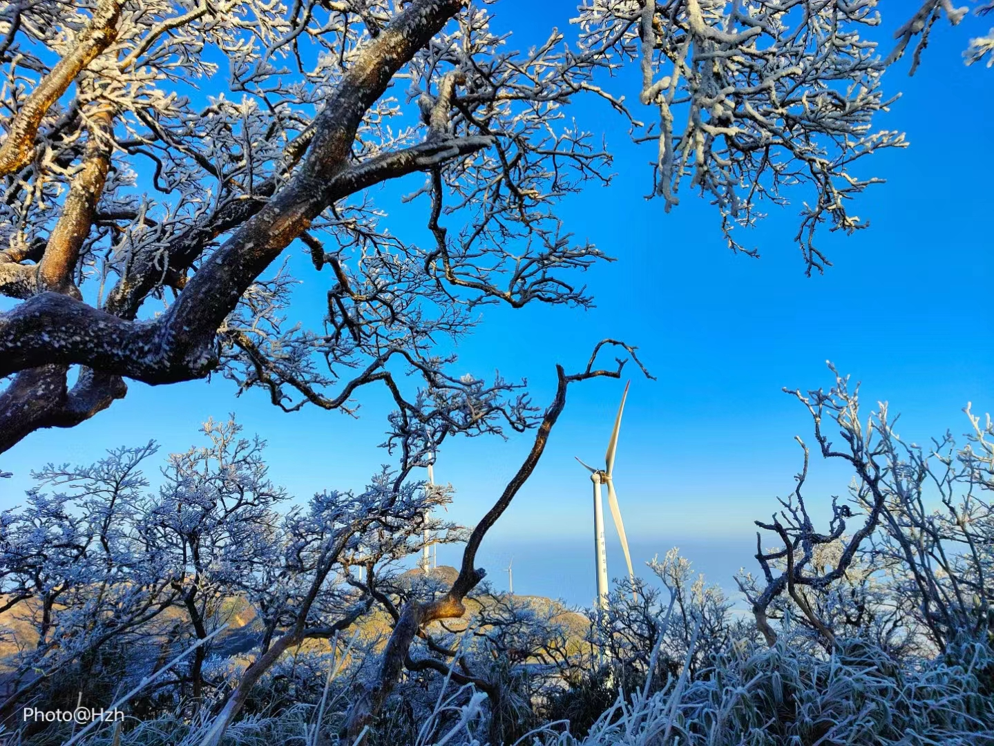
[{"label": "dark bark of the overhanging tree's thick forked trunk and main limbs", "polygon": [[[50,241],[51,257],[43,257],[41,262],[45,279],[37,290],[42,292],[18,293],[19,297],[30,297],[12,311],[0,314],[0,377],[47,365],[81,365],[95,373],[87,376],[79,391],[74,389],[76,396],[63,393],[65,385],[60,388],[50,382],[49,389],[60,392],[56,402],[62,400],[64,406],[38,408],[28,418],[24,417],[24,402],[30,398],[26,393],[30,381],[5,391],[11,413],[6,417],[0,414],[0,419],[14,420],[15,426],[5,429],[0,450],[38,427],[75,424],[106,407],[126,391],[121,376],[158,384],[207,375],[217,365],[217,331],[228,314],[255,278],[324,209],[386,179],[489,145],[491,139],[486,137],[435,138],[349,166],[352,144],[366,111],[383,95],[394,75],[463,5],[464,0],[416,0],[367,45],[313,125],[297,138],[299,145],[295,140],[288,148],[290,163],[306,153],[288,183],[278,191],[273,187],[274,194],[268,202],[252,203],[259,205],[257,210],[233,209],[190,236],[193,248],[179,252],[180,265],[188,266],[208,240],[234,229],[212,260],[185,284],[169,311],[156,321],[131,320],[141,300],[154,287],[150,271],[142,270],[122,279],[111,291],[106,311],[61,292],[44,292],[56,289],[49,274],[58,276],[74,257],[72,239],[79,232],[70,230],[67,224],[65,233],[55,236],[56,243]],[[76,214],[82,221],[83,212]],[[89,218],[91,221],[92,214]],[[57,245],[58,251],[54,250]],[[17,292],[15,280],[19,281],[22,270],[9,264],[0,265],[0,284],[7,280]],[[35,267],[25,265],[24,269],[31,271]],[[7,277],[10,274],[14,275],[12,279]],[[37,274],[43,276],[42,271]]]}]

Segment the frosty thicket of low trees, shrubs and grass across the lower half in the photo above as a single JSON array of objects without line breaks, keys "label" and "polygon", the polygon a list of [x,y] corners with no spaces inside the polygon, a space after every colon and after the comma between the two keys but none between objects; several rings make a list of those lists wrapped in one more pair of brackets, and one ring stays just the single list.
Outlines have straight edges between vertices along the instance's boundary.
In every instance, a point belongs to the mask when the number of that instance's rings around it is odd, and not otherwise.
[{"label": "frosty thicket of low trees, shrubs and grass across the lower half", "polygon": [[818,452],[855,478],[819,531],[801,443],[793,494],[757,522],[775,542],[757,538],[761,575],[739,578],[753,620],[675,549],[649,563],[663,592],[623,579],[585,616],[483,582],[480,542],[538,463],[569,385],[619,375],[620,363],[597,367],[606,347],[625,348],[604,341],[580,373],[559,371],[531,453],[472,531],[428,520],[433,540],[465,542],[451,578],[398,573],[421,549],[426,510],[449,499],[411,482],[411,465],[286,510],[264,444],[208,422],[206,445],[170,456],[157,492],[142,474],[154,444],[40,470],[0,522],[0,614],[17,644],[4,659],[7,726],[29,699],[58,708],[134,690],[124,704],[148,722],[126,737],[190,746],[276,737],[303,702],[321,703],[305,718],[312,746],[444,734],[898,743],[908,728],[967,744],[988,732],[994,425],[969,407],[967,443],[947,434],[925,451],[885,404],[861,415],[844,376],[789,391]]}]

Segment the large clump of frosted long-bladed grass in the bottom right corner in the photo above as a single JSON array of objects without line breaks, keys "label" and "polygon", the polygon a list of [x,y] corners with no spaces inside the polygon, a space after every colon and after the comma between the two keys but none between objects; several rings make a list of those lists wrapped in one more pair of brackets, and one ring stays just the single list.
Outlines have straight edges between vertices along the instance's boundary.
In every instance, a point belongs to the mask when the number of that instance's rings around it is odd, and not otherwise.
[{"label": "large clump of frosted long-bladed grass in the bottom right corner", "polygon": [[992,659],[899,668],[875,649],[843,643],[819,659],[782,636],[769,649],[730,653],[686,686],[618,697],[589,734],[547,746],[832,746],[994,744]]}]

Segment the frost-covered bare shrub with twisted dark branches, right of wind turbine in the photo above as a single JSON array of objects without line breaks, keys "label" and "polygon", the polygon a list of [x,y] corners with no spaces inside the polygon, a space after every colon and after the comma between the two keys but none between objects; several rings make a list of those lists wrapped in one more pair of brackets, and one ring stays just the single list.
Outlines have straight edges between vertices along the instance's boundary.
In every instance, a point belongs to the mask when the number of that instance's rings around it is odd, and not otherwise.
[{"label": "frost-covered bare shrub with twisted dark branches, right of wind turbine", "polygon": [[[849,500],[833,497],[828,529],[815,528],[803,494],[809,454],[798,439],[804,465],[794,492],[779,501],[770,522],[756,522],[776,537],[773,548],[764,548],[756,535],[762,582],[739,578],[757,628],[775,643],[769,611],[776,607],[782,618],[786,594],[829,647],[836,644],[833,625],[873,631],[892,649],[920,632],[935,650],[989,634],[990,418],[982,422],[967,406],[967,445],[957,448],[946,433],[925,450],[901,439],[886,402],[861,419],[858,386],[835,375],[829,391],[788,393],[808,409],[820,454],[852,469]],[[830,440],[829,423],[838,426],[843,447]],[[839,588],[848,593],[837,594]],[[883,596],[891,600],[884,603]]]}]

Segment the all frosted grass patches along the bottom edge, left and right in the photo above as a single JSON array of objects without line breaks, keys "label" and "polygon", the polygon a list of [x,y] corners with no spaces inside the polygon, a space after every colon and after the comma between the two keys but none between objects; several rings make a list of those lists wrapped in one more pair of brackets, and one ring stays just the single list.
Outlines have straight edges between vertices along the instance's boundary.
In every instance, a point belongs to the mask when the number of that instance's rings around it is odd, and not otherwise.
[{"label": "all frosted grass patches along the bottom edge, left and right", "polygon": [[[842,641],[825,656],[786,633],[771,648],[733,646],[696,678],[684,668],[654,692],[646,682],[638,691],[620,693],[586,736],[571,733],[568,723],[549,723],[517,745],[994,745],[994,656],[986,642],[958,651],[902,666],[861,641]],[[692,653],[693,646],[688,657]],[[328,692],[326,684],[317,705],[239,720],[224,744],[352,746],[333,727],[347,702]],[[483,694],[445,681],[403,746],[482,746],[487,716]],[[191,724],[160,717],[122,733],[119,746],[197,746],[211,724],[207,718]],[[109,728],[85,743],[115,746]]]}]

